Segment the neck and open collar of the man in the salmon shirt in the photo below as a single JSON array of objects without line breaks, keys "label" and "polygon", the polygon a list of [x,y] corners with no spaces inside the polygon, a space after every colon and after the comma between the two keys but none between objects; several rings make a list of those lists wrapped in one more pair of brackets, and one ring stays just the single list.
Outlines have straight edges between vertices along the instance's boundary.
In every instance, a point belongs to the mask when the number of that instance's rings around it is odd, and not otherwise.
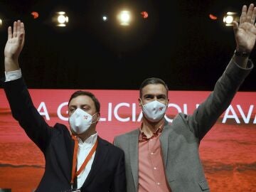
[{"label": "neck and open collar of the man in the salmon shirt", "polygon": [[150,138],[153,136],[156,130],[161,126],[161,124],[164,123],[164,118],[161,119],[159,122],[149,122],[148,119],[143,117],[142,122],[143,122],[142,131],[144,132],[147,138]]}]

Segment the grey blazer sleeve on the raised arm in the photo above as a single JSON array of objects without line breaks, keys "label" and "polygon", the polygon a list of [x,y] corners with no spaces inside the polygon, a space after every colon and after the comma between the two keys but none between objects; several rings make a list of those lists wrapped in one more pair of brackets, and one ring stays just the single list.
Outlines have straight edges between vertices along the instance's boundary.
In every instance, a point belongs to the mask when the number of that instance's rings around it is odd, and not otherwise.
[{"label": "grey blazer sleeve on the raised arm", "polygon": [[252,67],[253,64],[250,60],[247,68],[240,68],[232,59],[223,75],[216,82],[213,92],[199,105],[193,115],[188,117],[188,125],[198,137],[199,142],[213,127],[218,117],[228,108]]}]

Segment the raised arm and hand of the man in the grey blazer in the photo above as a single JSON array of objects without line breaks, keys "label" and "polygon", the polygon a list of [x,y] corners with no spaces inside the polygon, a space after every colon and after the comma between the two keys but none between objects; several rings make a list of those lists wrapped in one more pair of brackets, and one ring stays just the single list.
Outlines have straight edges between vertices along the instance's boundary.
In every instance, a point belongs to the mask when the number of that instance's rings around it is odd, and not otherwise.
[{"label": "raised arm and hand of the man in the grey blazer", "polygon": [[[256,40],[255,28],[256,8],[253,4],[247,11],[242,7],[240,23],[234,22],[236,51],[250,55]],[[215,124],[218,117],[226,110],[245,77],[252,69],[248,56],[234,55],[223,75],[216,82],[213,92],[209,95],[188,120],[188,126],[198,140]]]}]

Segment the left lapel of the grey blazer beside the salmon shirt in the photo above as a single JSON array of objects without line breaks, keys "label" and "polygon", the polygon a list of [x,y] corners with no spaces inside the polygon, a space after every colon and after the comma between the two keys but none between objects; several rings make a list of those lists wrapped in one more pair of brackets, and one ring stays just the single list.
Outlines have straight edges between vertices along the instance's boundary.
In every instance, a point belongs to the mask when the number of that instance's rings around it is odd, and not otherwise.
[{"label": "left lapel of the grey blazer beside the salmon shirt", "polygon": [[139,129],[132,132],[129,137],[129,160],[131,163],[132,176],[134,179],[134,186],[139,183]]}]

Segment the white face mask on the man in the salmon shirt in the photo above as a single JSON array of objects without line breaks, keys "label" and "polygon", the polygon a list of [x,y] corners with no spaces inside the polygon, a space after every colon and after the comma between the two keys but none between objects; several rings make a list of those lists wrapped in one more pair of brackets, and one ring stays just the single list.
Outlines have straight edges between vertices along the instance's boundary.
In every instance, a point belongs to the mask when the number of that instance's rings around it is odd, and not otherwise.
[{"label": "white face mask on the man in the salmon shirt", "polygon": [[150,122],[159,122],[164,117],[166,105],[154,100],[146,105],[142,105],[142,112]]}]

